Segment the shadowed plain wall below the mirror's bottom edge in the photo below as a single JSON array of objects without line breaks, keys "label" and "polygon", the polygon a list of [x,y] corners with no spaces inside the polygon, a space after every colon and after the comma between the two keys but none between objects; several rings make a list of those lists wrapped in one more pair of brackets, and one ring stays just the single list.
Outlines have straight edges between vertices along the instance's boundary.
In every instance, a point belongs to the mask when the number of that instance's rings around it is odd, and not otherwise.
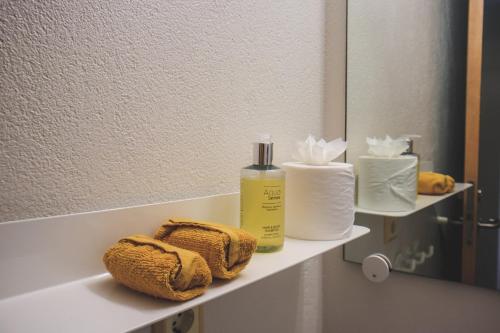
[{"label": "shadowed plain wall below the mirror's bottom edge", "polygon": [[[323,256],[324,332],[490,333],[500,327],[496,291],[392,273],[369,282],[341,251]],[[325,282],[326,283],[326,282]]]}]

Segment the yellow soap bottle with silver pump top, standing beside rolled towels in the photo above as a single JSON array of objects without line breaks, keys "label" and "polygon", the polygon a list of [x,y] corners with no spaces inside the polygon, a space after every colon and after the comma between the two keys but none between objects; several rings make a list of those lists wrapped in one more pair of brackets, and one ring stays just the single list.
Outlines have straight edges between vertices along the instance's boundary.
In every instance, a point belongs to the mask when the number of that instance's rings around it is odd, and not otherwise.
[{"label": "yellow soap bottle with silver pump top, standing beside rolled towels", "polygon": [[275,252],[285,239],[285,171],[274,166],[273,143],[253,144],[253,164],[241,169],[241,227],[257,238],[257,252]]}]

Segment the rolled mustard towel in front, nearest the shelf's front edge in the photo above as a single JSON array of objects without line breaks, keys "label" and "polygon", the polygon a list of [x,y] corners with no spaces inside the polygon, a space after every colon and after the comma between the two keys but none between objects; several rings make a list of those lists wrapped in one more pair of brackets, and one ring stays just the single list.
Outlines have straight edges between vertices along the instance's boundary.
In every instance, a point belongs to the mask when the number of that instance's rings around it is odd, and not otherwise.
[{"label": "rolled mustard towel in front, nearest the shelf's front edge", "polygon": [[103,257],[118,282],[151,296],[186,301],[205,292],[212,275],[198,253],[148,236],[121,239]]}]

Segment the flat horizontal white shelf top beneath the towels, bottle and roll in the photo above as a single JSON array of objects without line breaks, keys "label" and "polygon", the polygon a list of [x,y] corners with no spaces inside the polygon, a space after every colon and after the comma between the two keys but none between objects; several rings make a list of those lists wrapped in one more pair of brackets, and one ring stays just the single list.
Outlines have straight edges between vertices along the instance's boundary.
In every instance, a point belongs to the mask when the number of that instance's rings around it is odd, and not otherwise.
[{"label": "flat horizontal white shelf top beneath the towels, bottle and roll", "polygon": [[[342,240],[287,238],[282,251],[255,254],[239,277],[232,281],[216,280],[205,294],[183,303],[155,299],[132,291],[116,283],[109,274],[6,298],[0,301],[0,331],[130,331],[202,305],[367,233],[368,228],[354,226],[351,236]],[[36,271],[33,271],[32,278],[36,278]]]}]

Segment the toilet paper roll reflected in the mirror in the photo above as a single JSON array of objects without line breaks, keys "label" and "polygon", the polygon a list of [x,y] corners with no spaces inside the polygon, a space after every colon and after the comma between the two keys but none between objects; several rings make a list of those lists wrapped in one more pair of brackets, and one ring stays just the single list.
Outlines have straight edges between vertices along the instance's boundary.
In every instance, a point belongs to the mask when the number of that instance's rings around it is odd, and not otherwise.
[{"label": "toilet paper roll reflected in the mirror", "polygon": [[358,159],[358,206],[398,212],[415,208],[417,157],[360,156]]}]

